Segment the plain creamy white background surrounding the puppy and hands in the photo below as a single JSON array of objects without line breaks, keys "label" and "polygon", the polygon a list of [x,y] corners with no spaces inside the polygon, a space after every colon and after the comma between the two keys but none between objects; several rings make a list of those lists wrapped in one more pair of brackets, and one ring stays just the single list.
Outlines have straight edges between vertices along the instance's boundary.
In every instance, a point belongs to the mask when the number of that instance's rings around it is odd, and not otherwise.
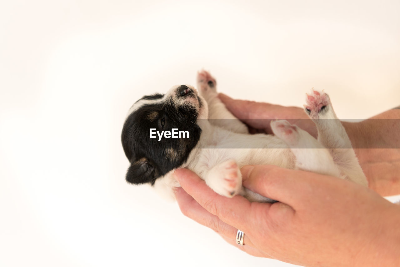
[{"label": "plain creamy white background surrounding the puppy and hands", "polygon": [[289,266],[255,258],[124,181],[144,94],[205,68],[235,98],[340,118],[399,104],[399,1],[0,4],[1,266]]}]

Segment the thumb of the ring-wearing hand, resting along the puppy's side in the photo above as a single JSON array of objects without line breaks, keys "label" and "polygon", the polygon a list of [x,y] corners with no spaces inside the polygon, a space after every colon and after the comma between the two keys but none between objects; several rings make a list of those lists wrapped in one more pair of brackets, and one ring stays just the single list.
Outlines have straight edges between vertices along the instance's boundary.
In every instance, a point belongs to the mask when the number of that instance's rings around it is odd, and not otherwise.
[{"label": "thumb of the ring-wearing hand, resting along the puppy's side", "polygon": [[243,186],[251,191],[285,203],[296,209],[314,195],[313,180],[328,177],[306,171],[290,170],[273,165],[247,165],[240,170]]}]

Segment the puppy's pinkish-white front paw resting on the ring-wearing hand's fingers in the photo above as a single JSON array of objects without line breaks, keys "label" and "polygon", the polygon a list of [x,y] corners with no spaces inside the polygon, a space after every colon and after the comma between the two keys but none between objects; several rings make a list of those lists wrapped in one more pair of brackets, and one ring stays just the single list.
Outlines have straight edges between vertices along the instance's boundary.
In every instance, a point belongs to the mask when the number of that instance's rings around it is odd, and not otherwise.
[{"label": "puppy's pinkish-white front paw resting on the ring-wearing hand's fingers", "polygon": [[216,193],[233,197],[242,188],[242,176],[235,161],[225,161],[210,170],[206,183]]}]

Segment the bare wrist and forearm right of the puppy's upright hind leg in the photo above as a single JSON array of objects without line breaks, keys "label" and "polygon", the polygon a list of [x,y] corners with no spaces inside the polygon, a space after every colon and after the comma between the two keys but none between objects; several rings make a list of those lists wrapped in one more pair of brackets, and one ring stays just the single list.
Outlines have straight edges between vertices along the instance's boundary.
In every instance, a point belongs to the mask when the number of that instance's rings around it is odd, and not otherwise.
[{"label": "bare wrist and forearm right of the puppy's upright hind leg", "polygon": [[400,194],[400,109],[342,123],[369,187],[382,196]]}]

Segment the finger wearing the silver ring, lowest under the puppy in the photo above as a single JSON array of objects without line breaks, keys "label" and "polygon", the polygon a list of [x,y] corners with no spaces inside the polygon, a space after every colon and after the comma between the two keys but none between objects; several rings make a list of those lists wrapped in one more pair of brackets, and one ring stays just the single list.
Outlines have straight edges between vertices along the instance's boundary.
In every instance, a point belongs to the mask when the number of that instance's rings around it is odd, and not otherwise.
[{"label": "finger wearing the silver ring, lowest under the puppy", "polygon": [[[180,210],[186,217],[189,217],[201,225],[211,228],[220,235],[236,240],[238,229],[224,223],[216,215],[209,213],[182,188],[176,189],[176,201],[178,202]],[[243,243],[254,247],[247,235],[244,235]]]}]

